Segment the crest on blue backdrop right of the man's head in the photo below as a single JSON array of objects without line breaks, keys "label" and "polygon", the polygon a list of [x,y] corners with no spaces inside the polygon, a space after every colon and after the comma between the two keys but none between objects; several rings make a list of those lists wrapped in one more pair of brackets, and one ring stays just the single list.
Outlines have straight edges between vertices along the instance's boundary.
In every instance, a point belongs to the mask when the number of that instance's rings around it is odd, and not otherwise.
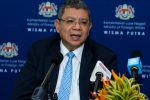
[{"label": "crest on blue backdrop right of the man's head", "polygon": [[123,4],[116,7],[116,18],[119,18],[121,20],[129,20],[131,18],[134,18],[135,10],[131,5]]}]

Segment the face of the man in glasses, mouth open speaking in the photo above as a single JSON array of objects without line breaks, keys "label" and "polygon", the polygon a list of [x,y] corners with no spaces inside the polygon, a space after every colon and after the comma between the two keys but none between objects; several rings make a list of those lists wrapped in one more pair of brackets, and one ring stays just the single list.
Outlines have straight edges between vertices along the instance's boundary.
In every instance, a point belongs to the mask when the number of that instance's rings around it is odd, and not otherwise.
[{"label": "face of the man in glasses, mouth open speaking", "polygon": [[74,50],[85,42],[91,26],[88,12],[84,9],[66,8],[62,18],[55,21],[56,30],[69,50]]}]

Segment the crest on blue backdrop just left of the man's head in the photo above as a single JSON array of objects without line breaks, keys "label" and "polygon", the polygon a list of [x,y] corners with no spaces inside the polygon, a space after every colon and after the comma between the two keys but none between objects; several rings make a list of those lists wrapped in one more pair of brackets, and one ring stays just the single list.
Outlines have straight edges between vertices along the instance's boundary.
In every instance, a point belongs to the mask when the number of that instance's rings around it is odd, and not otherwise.
[{"label": "crest on blue backdrop just left of the man's head", "polygon": [[53,17],[57,15],[57,6],[49,1],[42,2],[39,5],[39,15],[44,17]]}]

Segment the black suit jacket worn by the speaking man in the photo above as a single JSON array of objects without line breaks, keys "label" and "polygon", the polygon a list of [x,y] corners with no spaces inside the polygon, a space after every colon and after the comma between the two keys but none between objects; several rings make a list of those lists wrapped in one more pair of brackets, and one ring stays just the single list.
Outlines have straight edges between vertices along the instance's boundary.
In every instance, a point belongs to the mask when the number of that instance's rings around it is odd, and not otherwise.
[{"label": "black suit jacket worn by the speaking man", "polygon": [[[60,37],[52,37],[33,43],[25,67],[22,69],[13,91],[13,100],[31,100],[34,89],[41,84],[51,66],[54,55],[60,53]],[[97,60],[101,60],[108,69],[116,66],[116,55],[109,49],[91,39],[85,42],[79,73],[80,100],[88,100],[90,76]],[[59,66],[51,74],[50,83],[55,90]]]}]

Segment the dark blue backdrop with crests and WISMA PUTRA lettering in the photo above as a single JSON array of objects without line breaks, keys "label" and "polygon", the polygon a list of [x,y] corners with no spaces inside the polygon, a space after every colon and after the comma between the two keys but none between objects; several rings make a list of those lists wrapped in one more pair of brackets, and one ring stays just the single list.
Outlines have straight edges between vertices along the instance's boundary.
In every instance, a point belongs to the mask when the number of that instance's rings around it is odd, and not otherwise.
[{"label": "dark blue backdrop with crests and WISMA PUTRA lettering", "polygon": [[[56,33],[54,20],[63,0],[0,1],[0,99],[10,100],[32,42]],[[121,74],[128,74],[133,50],[142,54],[142,91],[150,97],[150,1],[85,0],[92,13],[90,36],[114,50]]]}]

